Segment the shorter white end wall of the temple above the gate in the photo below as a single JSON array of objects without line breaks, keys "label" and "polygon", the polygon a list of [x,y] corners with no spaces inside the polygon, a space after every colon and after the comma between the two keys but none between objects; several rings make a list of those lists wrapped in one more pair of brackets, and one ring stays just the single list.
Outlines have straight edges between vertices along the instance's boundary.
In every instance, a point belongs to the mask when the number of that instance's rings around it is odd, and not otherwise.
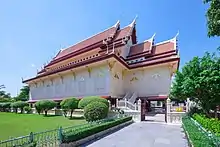
[{"label": "shorter white end wall of the temple above the gate", "polygon": [[[138,80],[130,81],[133,77]],[[168,66],[129,71],[125,75],[124,91],[137,92],[138,96],[168,95],[171,78]]]}]

